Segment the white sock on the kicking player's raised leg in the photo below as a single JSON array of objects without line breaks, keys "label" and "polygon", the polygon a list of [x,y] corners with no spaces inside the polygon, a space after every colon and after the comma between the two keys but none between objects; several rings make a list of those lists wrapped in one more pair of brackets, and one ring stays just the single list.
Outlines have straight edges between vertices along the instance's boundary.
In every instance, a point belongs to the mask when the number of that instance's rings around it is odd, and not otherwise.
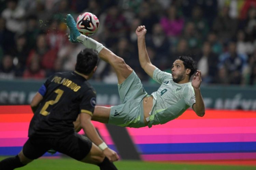
[{"label": "white sock on the kicking player's raised leg", "polygon": [[83,34],[80,34],[80,36],[78,36],[76,39],[78,42],[82,43],[86,48],[95,49],[96,51],[98,51],[98,53],[104,48],[104,46],[101,43]]}]

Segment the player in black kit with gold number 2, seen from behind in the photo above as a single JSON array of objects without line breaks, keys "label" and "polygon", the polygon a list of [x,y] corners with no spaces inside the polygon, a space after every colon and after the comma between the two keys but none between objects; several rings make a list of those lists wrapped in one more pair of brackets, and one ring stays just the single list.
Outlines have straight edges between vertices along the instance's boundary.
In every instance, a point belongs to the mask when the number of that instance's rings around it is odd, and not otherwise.
[{"label": "player in black kit with gold number 2, seen from behind", "polygon": [[[98,60],[97,51],[84,49],[77,55],[75,71],[55,73],[45,81],[31,102],[34,116],[29,125],[29,139],[17,156],[0,162],[0,169],[23,167],[51,148],[98,165],[101,170],[116,169],[112,161],[118,160],[117,153],[108,148],[91,123],[96,92],[87,80],[96,71]],[[78,115],[91,141],[75,132],[73,122]]]}]

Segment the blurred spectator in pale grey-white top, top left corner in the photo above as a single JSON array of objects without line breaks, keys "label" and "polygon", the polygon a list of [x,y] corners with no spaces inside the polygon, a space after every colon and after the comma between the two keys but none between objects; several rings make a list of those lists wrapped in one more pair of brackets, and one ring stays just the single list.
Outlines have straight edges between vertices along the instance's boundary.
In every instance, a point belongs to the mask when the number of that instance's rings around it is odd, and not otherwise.
[{"label": "blurred spectator in pale grey-white top, top left corner", "polygon": [[6,20],[6,28],[12,32],[24,32],[25,10],[18,6],[18,0],[8,0],[7,8],[3,10],[2,17]]}]

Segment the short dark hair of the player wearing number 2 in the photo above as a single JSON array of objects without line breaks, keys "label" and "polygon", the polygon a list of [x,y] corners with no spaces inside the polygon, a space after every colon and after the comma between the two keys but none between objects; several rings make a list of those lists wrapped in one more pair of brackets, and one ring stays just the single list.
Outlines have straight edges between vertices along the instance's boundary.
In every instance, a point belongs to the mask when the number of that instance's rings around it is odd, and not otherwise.
[{"label": "short dark hair of the player wearing number 2", "polygon": [[80,51],[76,58],[75,70],[79,73],[88,75],[98,64],[98,52],[94,49],[86,48]]}]

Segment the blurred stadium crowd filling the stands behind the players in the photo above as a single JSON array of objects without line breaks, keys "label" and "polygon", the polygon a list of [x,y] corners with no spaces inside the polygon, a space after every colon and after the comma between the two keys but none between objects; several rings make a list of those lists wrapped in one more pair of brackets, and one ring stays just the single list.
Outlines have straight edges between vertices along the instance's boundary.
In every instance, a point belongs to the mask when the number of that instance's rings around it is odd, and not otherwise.
[{"label": "blurred stadium crowd filling the stands behind the players", "polygon": [[[65,16],[98,16],[91,37],[124,58],[142,81],[154,83],[138,59],[139,25],[147,29],[147,50],[159,69],[190,55],[205,84],[256,85],[255,0],[2,0],[0,1],[0,79],[44,79],[73,70],[82,44],[68,41]],[[95,81],[117,83],[105,62]]]}]

